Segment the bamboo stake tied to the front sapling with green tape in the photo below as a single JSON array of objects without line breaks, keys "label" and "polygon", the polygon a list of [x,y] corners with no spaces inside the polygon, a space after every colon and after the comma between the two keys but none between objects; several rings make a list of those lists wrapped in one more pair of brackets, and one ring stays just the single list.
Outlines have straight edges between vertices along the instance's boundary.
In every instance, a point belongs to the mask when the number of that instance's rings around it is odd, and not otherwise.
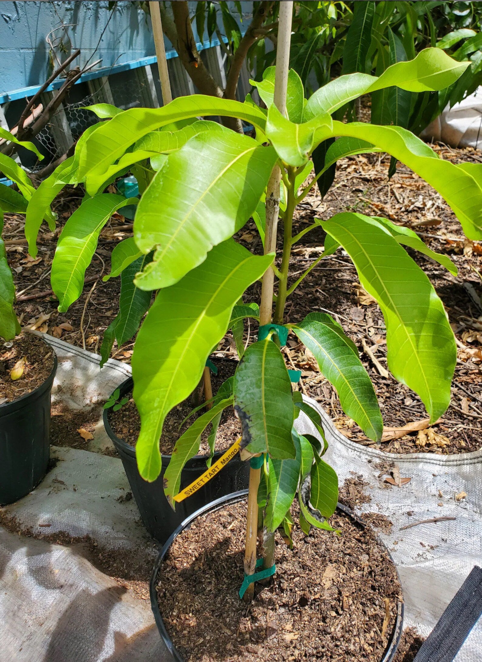
[{"label": "bamboo stake tied to the front sapling with green tape", "polygon": [[[291,21],[293,3],[280,2],[280,19],[278,28],[278,45],[276,48],[276,78],[274,81],[274,103],[282,115],[286,115],[286,85],[288,83],[288,68],[290,61]],[[276,230],[278,228],[278,213],[280,209],[281,171],[274,166],[268,183],[266,197],[266,228],[265,254],[276,250]],[[274,271],[268,269],[263,276],[261,287],[260,324],[269,324],[272,316],[272,295],[274,287]],[[246,523],[245,573],[255,572],[257,533],[258,533],[258,488],[261,469],[249,470],[248,512]],[[244,599],[253,600],[255,585],[250,584]]]}]

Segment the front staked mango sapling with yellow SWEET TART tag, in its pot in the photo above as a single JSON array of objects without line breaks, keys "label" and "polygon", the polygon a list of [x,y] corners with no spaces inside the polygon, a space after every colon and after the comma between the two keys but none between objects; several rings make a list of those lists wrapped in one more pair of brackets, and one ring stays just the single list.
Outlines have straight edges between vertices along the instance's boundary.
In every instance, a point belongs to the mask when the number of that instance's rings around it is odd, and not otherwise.
[{"label": "front staked mango sapling with yellow SWEET TART tag, in its pot", "polygon": [[[289,5],[280,5],[285,28]],[[286,41],[280,40],[278,48]],[[117,113],[91,133],[79,152],[76,176],[86,182],[91,200],[105,195],[99,193],[103,183],[132,164],[138,181],[145,177],[127,263],[153,252],[134,280],[139,290],[156,291],[133,353],[133,397],[141,418],[137,465],[146,481],[156,481],[163,471],[159,439],[168,413],[200,383],[235,306],[248,306],[241,314],[253,314],[251,302],[239,300],[263,278],[259,338],[236,368],[232,393],[227,384],[222,398],[178,438],[163,475],[172,507],[189,502],[192,496],[184,497],[196,494],[196,483],[203,484],[209,474],[182,489],[182,469],[219,412],[235,408],[241,439],[219,460],[223,468],[216,463],[211,474],[227,471],[234,461],[227,459],[241,447],[250,465],[247,504],[238,495],[207,506],[178,528],[154,569],[154,614],[174,659],[283,659],[291,654],[284,648],[296,647],[296,654],[308,658],[378,662],[391,659],[396,647],[396,571],[371,532],[336,510],[337,478],[323,459],[320,414],[314,402],[292,391],[294,376],[280,351],[287,334],[295,334],[313,352],[343,410],[373,440],[383,430],[377,398],[357,348],[330,316],[310,313],[298,324],[285,323],[286,299],[306,275],[288,283],[293,246],[320,224],[327,232],[324,255],[343,246],[385,317],[389,368],[420,395],[431,420],[448,406],[455,341],[434,288],[403,248],[428,254],[414,233],[386,219],[341,213],[293,236],[294,209],[314,185],[300,189],[312,167],[312,152],[340,136],[326,150],[316,177],[342,156],[389,152],[444,196],[469,238],[482,236],[478,166],[440,160],[403,128],[344,124],[331,117],[377,89],[442,89],[465,64],[427,49],[379,78],[342,76],[304,101],[302,83],[296,73],[288,74],[286,61],[285,50],[276,73],[268,70],[259,83],[267,110],[251,100],[181,97],[161,109]],[[256,137],[197,120],[206,115],[250,122]],[[266,202],[265,217],[260,201]],[[278,206],[283,251],[275,263]],[[233,240],[253,213],[263,256]],[[299,424],[305,414],[316,436],[302,434],[308,429]],[[276,544],[278,529],[288,545]],[[247,611],[239,596],[251,600],[255,581],[263,581],[263,589],[257,589]]]}]

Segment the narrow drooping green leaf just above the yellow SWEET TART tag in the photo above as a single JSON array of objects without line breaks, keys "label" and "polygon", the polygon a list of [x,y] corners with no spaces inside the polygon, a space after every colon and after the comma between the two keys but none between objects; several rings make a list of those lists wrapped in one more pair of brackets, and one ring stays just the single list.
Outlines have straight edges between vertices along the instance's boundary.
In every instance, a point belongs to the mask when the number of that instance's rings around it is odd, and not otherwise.
[{"label": "narrow drooping green leaf just above the yellow SWEET TART tag", "polygon": [[[194,421],[174,445],[169,464],[164,473],[164,494],[173,510],[176,509],[174,496],[179,493],[182,469],[184,469],[186,462],[198,452],[201,443],[201,435],[204,430],[206,430],[211,420],[213,420],[217,414],[221,414],[221,412],[231,404],[233,404],[232,399],[221,400],[221,402],[218,402],[218,404],[211,407],[211,409],[208,409],[205,414],[202,414],[202,416]],[[157,441],[157,449],[158,447],[159,441]]]}]

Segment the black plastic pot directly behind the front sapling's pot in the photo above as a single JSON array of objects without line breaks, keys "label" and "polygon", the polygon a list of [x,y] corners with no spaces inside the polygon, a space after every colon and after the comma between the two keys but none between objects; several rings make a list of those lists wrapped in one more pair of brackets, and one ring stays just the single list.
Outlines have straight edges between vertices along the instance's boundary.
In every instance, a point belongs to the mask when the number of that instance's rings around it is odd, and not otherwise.
[{"label": "black plastic pot directly behind the front sapling's pot", "polygon": [[[132,391],[132,388],[133,379],[129,377],[119,387],[119,397],[122,398],[127,395],[127,393]],[[170,455],[161,456],[162,469],[158,479],[153,483],[145,481],[141,478],[139,469],[137,469],[135,448],[115,436],[107,420],[107,412],[107,409],[103,412],[105,430],[111,438],[117,453],[121,456],[127,479],[129,479],[129,485],[131,485],[133,496],[141,513],[143,524],[152,538],[160,542],[160,544],[163,545],[172,532],[186,518],[193,513],[197,513],[206,504],[210,504],[219,497],[230,495],[247,487],[249,483],[249,462],[242,462],[239,453],[237,453],[206,485],[198,489],[189,498],[176,504],[175,511],[172,510],[164,495],[164,486],[162,484],[164,471],[166,471],[166,467],[170,461]],[[223,453],[215,453],[212,460],[213,463],[221,455]],[[196,455],[190,459],[182,470],[180,489],[182,490],[196,481],[207,468],[206,457],[204,455]]]}]

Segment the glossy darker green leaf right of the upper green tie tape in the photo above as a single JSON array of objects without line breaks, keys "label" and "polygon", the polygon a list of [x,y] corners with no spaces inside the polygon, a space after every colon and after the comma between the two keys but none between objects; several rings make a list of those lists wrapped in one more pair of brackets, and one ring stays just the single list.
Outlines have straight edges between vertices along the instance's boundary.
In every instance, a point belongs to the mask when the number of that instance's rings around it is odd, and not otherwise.
[{"label": "glossy darker green leaf right of the upper green tie tape", "polygon": [[353,418],[370,439],[379,440],[383,420],[377,396],[352,346],[331,324],[313,318],[303,320],[292,328],[301,342],[313,352],[320,371],[337,390],[345,414]]}]

